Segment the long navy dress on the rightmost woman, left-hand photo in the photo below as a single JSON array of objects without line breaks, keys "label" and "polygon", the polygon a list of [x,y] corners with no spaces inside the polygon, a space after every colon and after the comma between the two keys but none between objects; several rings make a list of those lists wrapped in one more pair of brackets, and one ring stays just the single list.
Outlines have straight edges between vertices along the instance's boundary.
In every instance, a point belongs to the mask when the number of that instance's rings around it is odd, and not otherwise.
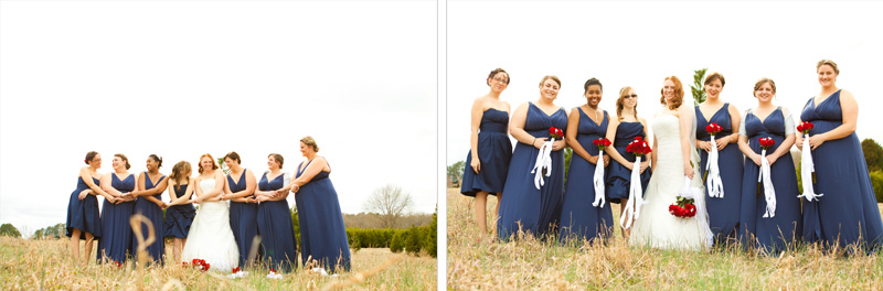
[{"label": "long navy dress on the rightmost woman, left-hand photo", "polygon": [[[301,170],[297,171],[295,179],[304,174],[307,165],[302,169],[298,165]],[[320,171],[295,194],[297,218],[300,224],[300,259],[304,266],[308,263],[307,258],[312,257],[319,261],[319,267],[332,272],[338,271],[337,266],[349,271],[350,244],[347,228],[343,226],[338,192],[334,191],[328,174]]]}]

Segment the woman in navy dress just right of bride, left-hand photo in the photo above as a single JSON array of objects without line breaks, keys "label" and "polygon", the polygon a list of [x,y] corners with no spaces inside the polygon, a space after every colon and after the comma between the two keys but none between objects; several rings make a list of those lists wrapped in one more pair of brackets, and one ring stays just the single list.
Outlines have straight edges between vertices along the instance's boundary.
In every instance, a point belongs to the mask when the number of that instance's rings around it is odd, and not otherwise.
[{"label": "woman in navy dress just right of bride, left-hand photo", "polygon": [[[235,151],[224,155],[224,163],[230,168],[227,183],[224,185],[224,194],[221,200],[230,201],[230,228],[236,238],[236,246],[240,247],[240,266],[246,265],[255,237],[257,236],[257,203],[253,197],[257,181],[254,173],[240,165],[242,160]],[[260,256],[259,246],[255,256]]]}]

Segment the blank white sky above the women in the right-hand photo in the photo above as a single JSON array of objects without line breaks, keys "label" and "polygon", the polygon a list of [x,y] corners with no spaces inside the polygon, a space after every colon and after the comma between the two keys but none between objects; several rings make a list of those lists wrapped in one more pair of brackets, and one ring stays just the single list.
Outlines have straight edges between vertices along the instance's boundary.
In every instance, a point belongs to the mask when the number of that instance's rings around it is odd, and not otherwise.
[{"label": "blank white sky above the women in the right-hand photo", "polygon": [[724,75],[721,97],[740,110],[756,106],[758,78],[773,78],[775,103],[796,121],[820,90],[816,62],[830,58],[841,71],[837,85],[859,101],[859,138],[883,142],[880,11],[879,1],[448,1],[447,164],[466,159],[469,109],[496,67],[511,75],[501,98],[512,110],[539,98],[544,75],[557,75],[556,103],[570,111],[597,77],[603,109],[615,115],[619,88],[632,86],[638,115],[651,119],[666,76],[678,76],[689,96],[693,71],[708,67]]}]

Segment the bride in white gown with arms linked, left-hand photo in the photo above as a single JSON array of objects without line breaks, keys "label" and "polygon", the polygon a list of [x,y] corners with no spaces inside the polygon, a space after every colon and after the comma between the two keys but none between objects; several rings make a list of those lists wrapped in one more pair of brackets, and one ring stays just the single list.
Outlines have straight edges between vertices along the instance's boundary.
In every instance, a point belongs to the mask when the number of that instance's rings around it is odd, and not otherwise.
[{"label": "bride in white gown with arms linked, left-hand photo", "polygon": [[227,203],[217,198],[223,194],[224,174],[217,171],[211,154],[200,157],[196,185],[200,208],[190,226],[181,259],[184,262],[203,259],[209,263],[209,270],[228,272],[240,265],[240,249],[230,228]]}]

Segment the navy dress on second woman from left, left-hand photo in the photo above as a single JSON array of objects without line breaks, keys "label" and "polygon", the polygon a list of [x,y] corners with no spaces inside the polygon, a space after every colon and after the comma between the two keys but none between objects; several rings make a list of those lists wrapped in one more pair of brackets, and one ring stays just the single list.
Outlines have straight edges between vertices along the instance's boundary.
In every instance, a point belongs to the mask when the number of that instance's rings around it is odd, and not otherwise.
[{"label": "navy dress on second woman from left, left-hand photo", "polygon": [[[110,173],[110,186],[127,193],[135,190],[135,175],[130,174],[125,180],[119,180],[116,173]],[[107,200],[102,205],[102,234],[98,240],[98,261],[107,257],[110,262],[125,262],[131,254],[131,225],[129,218],[135,211],[135,201],[113,204]]]}]

